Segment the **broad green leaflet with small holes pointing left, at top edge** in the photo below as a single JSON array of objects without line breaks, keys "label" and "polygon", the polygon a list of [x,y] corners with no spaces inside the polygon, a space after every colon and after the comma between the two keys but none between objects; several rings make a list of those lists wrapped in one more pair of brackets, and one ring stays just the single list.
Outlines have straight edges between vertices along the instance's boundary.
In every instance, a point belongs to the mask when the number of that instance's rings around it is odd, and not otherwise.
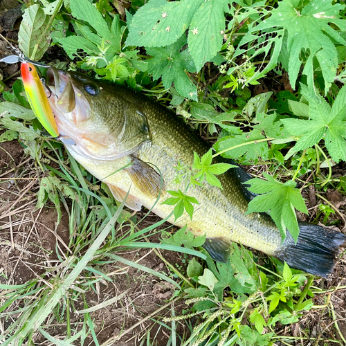
[{"label": "broad green leaflet with small holes pointing left, at top edge", "polygon": [[129,23],[127,46],[162,47],[176,42],[190,26],[203,0],[149,0]]}]

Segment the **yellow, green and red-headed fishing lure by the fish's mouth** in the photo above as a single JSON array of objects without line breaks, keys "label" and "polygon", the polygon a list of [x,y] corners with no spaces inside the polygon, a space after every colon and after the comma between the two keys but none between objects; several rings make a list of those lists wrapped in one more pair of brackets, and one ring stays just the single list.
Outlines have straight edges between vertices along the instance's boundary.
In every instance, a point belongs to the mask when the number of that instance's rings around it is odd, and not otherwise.
[{"label": "yellow, green and red-headed fishing lure by the fish's mouth", "polygon": [[53,111],[48,102],[42,81],[39,79],[39,75],[35,68],[35,65],[42,67],[49,66],[33,62],[24,57],[21,53],[19,53],[19,55],[4,57],[0,62],[6,62],[7,64],[21,62],[21,77],[23,78],[26,97],[28,98],[31,109],[33,109],[35,116],[51,136],[59,136],[59,130],[57,129]]}]

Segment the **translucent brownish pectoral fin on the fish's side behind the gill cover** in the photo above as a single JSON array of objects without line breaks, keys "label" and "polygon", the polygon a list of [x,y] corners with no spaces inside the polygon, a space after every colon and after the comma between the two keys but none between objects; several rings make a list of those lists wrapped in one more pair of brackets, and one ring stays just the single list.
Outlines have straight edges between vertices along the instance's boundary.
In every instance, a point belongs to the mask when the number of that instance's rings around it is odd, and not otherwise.
[{"label": "translucent brownish pectoral fin on the fish's side behind the gill cover", "polygon": [[126,169],[134,185],[149,197],[165,192],[165,181],[160,174],[139,158],[131,157],[132,165]]}]

